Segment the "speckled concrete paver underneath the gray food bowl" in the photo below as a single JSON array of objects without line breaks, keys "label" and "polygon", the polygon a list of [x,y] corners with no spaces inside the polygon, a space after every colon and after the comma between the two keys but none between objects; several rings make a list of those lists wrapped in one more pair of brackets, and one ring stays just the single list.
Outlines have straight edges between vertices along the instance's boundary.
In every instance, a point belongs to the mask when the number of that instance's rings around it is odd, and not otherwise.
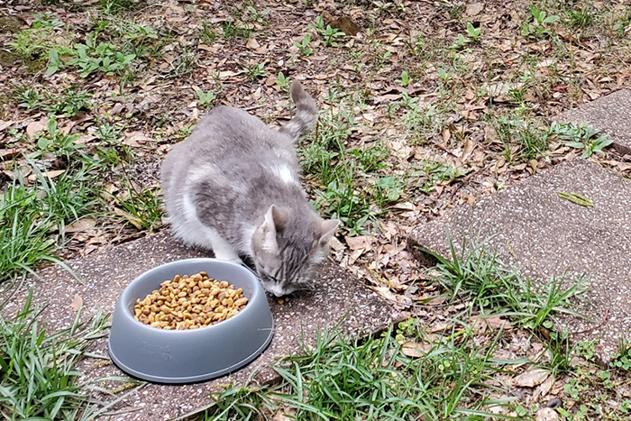
[{"label": "speckled concrete paver underneath the gray food bowl", "polygon": [[[157,233],[84,259],[69,261],[69,267],[75,270],[82,283],[59,267],[42,270],[42,279],[28,280],[5,311],[13,313],[20,308],[26,291],[32,288],[33,302],[48,305],[42,320],[47,321],[49,332],[53,332],[72,323],[76,313],[71,304],[76,295],[83,300],[84,316],[93,315],[99,308],[111,313],[123,288],[144,270],[168,261],[199,256],[199,252],[179,246],[168,233]],[[272,362],[300,352],[301,340],[306,344],[314,343],[319,329],[333,327],[344,316],[343,331],[362,335],[380,332],[403,319],[376,293],[330,263],[319,274],[319,287],[314,292],[290,297],[282,306],[274,299],[269,301],[275,333],[259,359],[231,376],[206,383],[184,386],[147,384],[126,399],[123,412],[103,419],[155,421],[184,416],[209,406],[212,403],[209,393],[222,385],[244,384],[250,376],[254,384],[277,380],[279,376],[270,368]],[[105,339],[98,340],[91,351],[107,355]],[[104,365],[96,359],[87,360],[81,369],[87,372],[90,380],[124,375],[113,364],[105,362]],[[120,386],[120,383],[109,384]]]}]

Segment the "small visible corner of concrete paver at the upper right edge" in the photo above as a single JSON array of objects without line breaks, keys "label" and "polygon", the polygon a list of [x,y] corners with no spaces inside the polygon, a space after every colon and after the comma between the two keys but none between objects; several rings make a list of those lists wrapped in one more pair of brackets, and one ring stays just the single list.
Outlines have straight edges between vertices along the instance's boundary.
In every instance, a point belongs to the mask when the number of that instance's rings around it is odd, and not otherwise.
[{"label": "small visible corner of concrete paver at the upper right edge", "polygon": [[565,123],[587,123],[608,133],[613,147],[622,155],[631,155],[631,90],[622,89],[608,96],[560,114],[555,120]]}]

